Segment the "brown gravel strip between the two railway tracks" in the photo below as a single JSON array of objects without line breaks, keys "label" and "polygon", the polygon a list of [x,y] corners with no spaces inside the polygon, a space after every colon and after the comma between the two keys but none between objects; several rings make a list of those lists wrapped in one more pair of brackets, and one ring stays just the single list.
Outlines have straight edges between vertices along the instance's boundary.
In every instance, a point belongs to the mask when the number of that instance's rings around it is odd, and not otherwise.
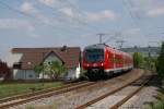
[{"label": "brown gravel strip between the two railway tracks", "polygon": [[24,107],[32,106],[34,109],[74,109],[75,107],[93,100],[107,92],[112,92],[125,84],[130,84],[131,82],[139,80],[143,73],[143,70],[133,70],[108,81],[97,82],[94,85],[78,88],[75,90],[65,93],[63,95],[51,96],[49,98],[35,100],[14,108],[22,109]]}]

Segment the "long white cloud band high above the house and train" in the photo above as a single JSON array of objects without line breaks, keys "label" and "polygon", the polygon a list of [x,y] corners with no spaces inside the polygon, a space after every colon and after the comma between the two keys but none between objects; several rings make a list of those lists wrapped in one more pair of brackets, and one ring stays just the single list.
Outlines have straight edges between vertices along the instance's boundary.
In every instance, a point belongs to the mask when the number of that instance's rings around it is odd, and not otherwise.
[{"label": "long white cloud band high above the house and train", "polygon": [[103,10],[99,12],[86,12],[81,11],[78,12],[77,10],[73,10],[72,8],[62,8],[59,9],[61,14],[66,20],[70,20],[72,22],[81,22],[81,23],[94,23],[94,22],[104,22],[108,20],[115,20],[117,19],[117,14],[110,10]]}]

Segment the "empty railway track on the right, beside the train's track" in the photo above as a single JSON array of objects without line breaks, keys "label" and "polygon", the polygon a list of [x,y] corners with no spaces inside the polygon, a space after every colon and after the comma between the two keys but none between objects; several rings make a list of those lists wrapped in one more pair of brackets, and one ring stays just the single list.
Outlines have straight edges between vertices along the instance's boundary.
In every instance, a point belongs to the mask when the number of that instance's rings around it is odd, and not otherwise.
[{"label": "empty railway track on the right, beside the train's track", "polygon": [[[124,84],[122,86],[120,87],[116,87],[114,88],[113,90],[95,98],[95,99],[92,99],[81,106],[78,106],[75,109],[99,109],[99,108],[103,108],[103,109],[118,109],[121,105],[124,105],[128,99],[130,99],[132,96],[134,96],[138,92],[140,92],[144,85],[151,80],[152,77],[150,76],[143,76],[143,77],[138,77],[129,83],[126,83]],[[136,89],[132,89],[133,92],[129,93],[126,97],[124,97],[122,99],[118,99],[118,98],[115,98],[117,99],[117,101],[114,101],[114,97],[110,97],[110,96],[114,96],[115,94],[117,94],[118,92],[120,92],[121,89],[132,85],[132,84],[138,84],[139,86],[136,88]],[[109,98],[110,97],[110,98]],[[108,99],[106,99],[108,98]],[[107,107],[104,107],[103,105],[97,105],[97,102],[102,101],[104,99],[104,102],[105,102],[105,99],[107,102],[110,102]],[[103,101],[101,104],[104,104]],[[101,107],[103,106],[103,107]]]}]

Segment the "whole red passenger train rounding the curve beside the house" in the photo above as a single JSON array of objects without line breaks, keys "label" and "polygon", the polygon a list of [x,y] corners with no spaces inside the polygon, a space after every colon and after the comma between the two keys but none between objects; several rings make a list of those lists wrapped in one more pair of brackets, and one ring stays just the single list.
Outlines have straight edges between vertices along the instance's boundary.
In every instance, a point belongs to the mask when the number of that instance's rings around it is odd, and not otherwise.
[{"label": "whole red passenger train rounding the curve beside the house", "polygon": [[133,59],[126,52],[97,44],[84,48],[82,65],[90,78],[97,78],[131,70]]}]

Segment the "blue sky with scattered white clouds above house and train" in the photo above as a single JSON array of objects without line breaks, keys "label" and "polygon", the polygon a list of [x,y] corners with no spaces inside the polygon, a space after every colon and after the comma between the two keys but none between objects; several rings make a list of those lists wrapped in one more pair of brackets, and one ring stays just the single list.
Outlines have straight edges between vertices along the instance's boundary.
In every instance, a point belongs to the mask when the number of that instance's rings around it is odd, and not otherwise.
[{"label": "blue sky with scattered white clouds above house and train", "polygon": [[159,46],[164,39],[163,0],[0,0],[0,58],[13,47]]}]

